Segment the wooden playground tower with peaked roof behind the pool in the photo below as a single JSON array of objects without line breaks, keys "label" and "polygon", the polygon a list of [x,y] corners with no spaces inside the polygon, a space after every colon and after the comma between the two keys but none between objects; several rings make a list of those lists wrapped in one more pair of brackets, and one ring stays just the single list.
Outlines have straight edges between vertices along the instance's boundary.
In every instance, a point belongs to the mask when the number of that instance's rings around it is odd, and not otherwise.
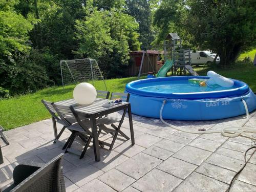
[{"label": "wooden playground tower with peaked roof behind the pool", "polygon": [[191,67],[190,49],[182,49],[182,40],[177,33],[169,33],[164,40],[164,60],[173,60],[172,75],[198,75]]}]

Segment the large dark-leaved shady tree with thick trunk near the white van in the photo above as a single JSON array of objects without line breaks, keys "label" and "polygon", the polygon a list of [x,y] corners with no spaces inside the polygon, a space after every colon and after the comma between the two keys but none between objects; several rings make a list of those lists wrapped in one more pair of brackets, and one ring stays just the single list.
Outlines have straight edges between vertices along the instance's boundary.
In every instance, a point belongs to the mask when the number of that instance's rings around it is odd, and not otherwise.
[{"label": "large dark-leaved shady tree with thick trunk near the white van", "polygon": [[254,1],[190,1],[189,7],[189,32],[203,47],[217,52],[222,65],[236,61],[242,51],[255,47]]}]

